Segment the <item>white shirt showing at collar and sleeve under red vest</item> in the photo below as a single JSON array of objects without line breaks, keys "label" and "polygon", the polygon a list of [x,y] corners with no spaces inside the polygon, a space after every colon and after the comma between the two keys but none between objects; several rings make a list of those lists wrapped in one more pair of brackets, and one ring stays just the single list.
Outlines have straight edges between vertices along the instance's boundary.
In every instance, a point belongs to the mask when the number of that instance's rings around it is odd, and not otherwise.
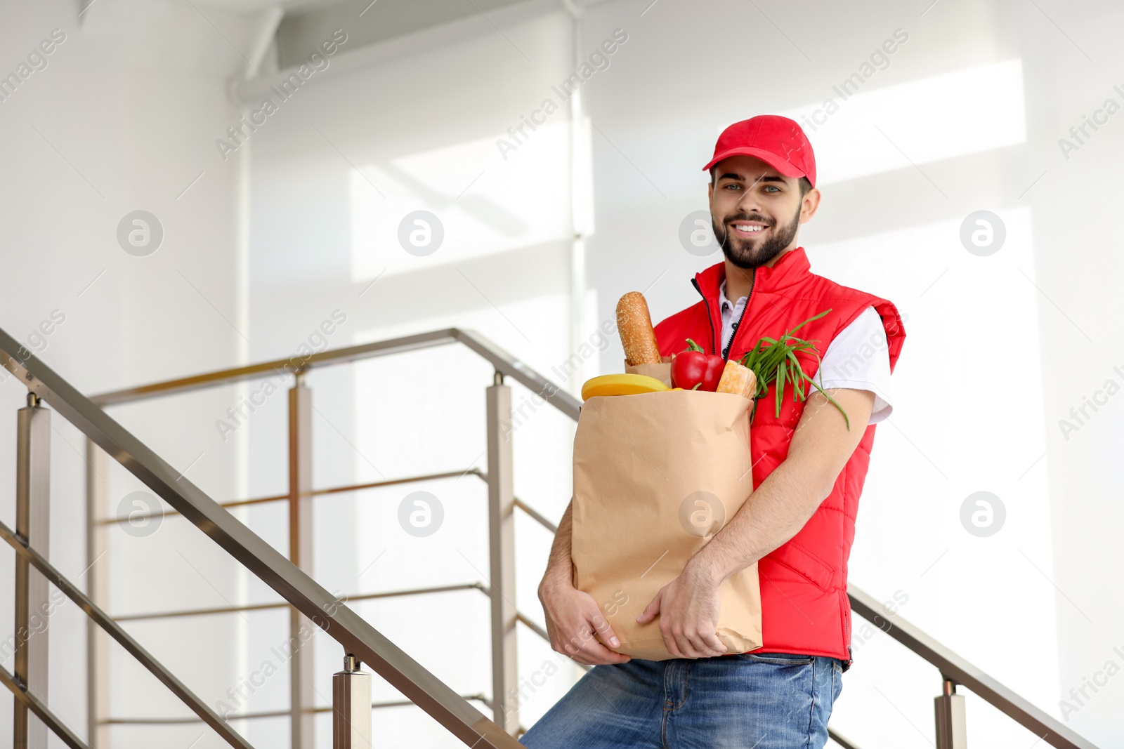
[{"label": "white shirt showing at collar and sleeve under red vest", "polygon": [[[718,287],[722,310],[722,348],[729,345],[734,328],[745,308],[745,296],[731,303],[726,299],[726,282]],[[890,351],[886,340],[882,318],[873,307],[868,307],[851,325],[843,328],[827,350],[821,354],[816,384],[824,390],[850,387],[869,390],[874,394],[874,407],[868,423],[882,421],[894,412],[890,404]],[[815,390],[810,385],[809,390]]]}]

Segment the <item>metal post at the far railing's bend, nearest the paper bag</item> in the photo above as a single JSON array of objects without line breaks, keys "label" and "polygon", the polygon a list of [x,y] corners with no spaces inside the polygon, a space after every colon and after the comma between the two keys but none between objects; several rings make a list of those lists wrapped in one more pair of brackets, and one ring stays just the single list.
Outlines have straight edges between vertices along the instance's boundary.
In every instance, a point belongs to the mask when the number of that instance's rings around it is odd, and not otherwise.
[{"label": "metal post at the far railing's bend, nearest the paper bag", "polygon": [[492,712],[496,723],[519,730],[515,647],[515,490],[511,469],[511,389],[496,373],[488,387],[488,542],[491,576]]}]

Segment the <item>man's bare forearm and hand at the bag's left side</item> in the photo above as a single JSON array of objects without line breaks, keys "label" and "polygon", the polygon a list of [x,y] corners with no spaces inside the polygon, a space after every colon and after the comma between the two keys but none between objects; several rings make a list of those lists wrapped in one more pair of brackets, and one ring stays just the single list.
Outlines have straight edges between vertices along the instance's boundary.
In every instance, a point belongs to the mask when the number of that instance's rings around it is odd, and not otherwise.
[{"label": "man's bare forearm and hand at the bag's left side", "polygon": [[629,658],[609,650],[619,647],[620,641],[601,615],[597,602],[573,586],[573,561],[570,558],[572,517],[571,501],[559,522],[546,573],[538,584],[538,600],[546,614],[551,648],[587,666],[623,664]]}]

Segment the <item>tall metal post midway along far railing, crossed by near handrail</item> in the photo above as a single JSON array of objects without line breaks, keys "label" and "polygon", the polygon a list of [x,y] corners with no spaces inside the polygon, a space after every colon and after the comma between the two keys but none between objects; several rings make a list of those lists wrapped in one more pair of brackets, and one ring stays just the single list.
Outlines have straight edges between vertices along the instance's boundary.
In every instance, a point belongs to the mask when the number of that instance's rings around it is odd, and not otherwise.
[{"label": "tall metal post midway along far railing, crossed by near handrail", "polygon": [[[289,560],[312,574],[312,392],[305,373],[297,372],[289,390]],[[289,707],[292,749],[316,746],[312,707],[312,633],[316,625],[296,609],[289,610]]]}]

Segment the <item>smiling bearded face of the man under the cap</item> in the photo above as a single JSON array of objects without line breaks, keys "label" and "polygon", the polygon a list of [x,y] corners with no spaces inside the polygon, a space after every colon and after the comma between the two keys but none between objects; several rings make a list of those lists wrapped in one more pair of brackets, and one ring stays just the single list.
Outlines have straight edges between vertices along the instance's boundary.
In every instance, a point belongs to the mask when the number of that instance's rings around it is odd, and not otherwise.
[{"label": "smiling bearded face of the man under the cap", "polygon": [[805,205],[797,177],[781,176],[759,158],[731,156],[715,165],[714,174],[714,236],[737,267],[755,268],[780,255],[796,241],[800,223],[815,210]]}]

